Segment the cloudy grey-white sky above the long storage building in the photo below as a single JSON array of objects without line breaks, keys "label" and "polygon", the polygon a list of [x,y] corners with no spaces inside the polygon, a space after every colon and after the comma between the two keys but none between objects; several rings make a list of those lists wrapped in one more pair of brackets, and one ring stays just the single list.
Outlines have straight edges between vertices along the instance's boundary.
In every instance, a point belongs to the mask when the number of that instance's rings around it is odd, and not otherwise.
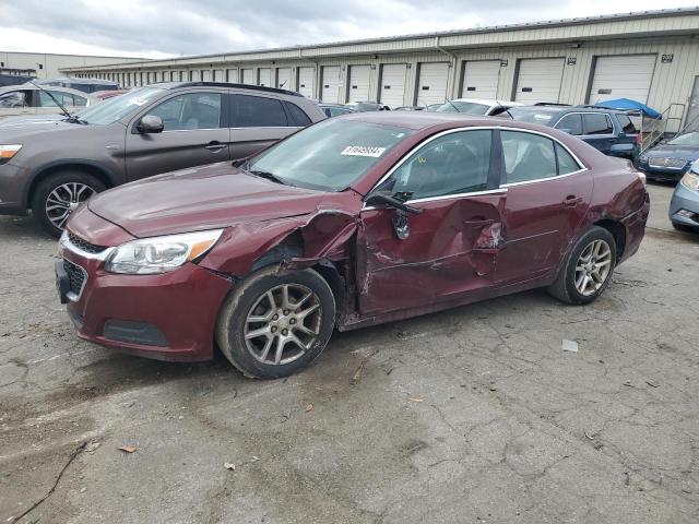
[{"label": "cloudy grey-white sky above the long storage building", "polygon": [[0,50],[161,58],[697,3],[697,0],[0,0]]}]

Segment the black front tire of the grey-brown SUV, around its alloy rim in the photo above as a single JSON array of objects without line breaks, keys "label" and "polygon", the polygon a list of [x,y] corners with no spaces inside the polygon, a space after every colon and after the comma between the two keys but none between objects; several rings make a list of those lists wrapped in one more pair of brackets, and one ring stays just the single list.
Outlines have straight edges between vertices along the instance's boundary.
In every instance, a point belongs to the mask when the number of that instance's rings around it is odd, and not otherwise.
[{"label": "black front tire of the grey-brown SUV, around its alloy rim", "polygon": [[[79,202],[83,202],[87,198],[92,196],[94,193],[99,193],[107,189],[105,184],[99,181],[97,178],[88,175],[86,172],[81,171],[60,171],[55,175],[49,176],[45,180],[42,180],[34,191],[34,196],[32,199],[32,214],[39,222],[42,227],[51,236],[58,238],[63,233],[63,227],[66,222],[68,222],[68,216],[72,213],[72,210],[68,211],[68,215],[66,221],[62,222],[62,226],[58,227],[55,224],[55,221],[58,219],[59,213],[61,210],[57,210],[52,216],[49,216],[49,212],[47,211],[47,200],[49,195],[55,191],[59,190],[59,188],[69,184],[69,187],[81,187],[81,186],[72,186],[72,184],[82,184],[85,186],[91,193],[87,195],[85,189],[76,200]],[[60,191],[60,190],[59,190]],[[83,198],[86,196],[86,198]],[[51,221],[54,218],[54,222]]]}]

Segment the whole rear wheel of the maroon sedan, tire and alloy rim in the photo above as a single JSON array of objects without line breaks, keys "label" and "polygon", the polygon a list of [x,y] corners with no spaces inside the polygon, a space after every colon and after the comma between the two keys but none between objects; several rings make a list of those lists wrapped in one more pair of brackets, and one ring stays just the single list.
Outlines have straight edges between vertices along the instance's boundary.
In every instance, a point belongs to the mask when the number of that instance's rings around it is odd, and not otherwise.
[{"label": "whole rear wheel of the maroon sedan, tire and alloy rim", "polygon": [[567,303],[590,303],[609,284],[616,260],[612,234],[593,226],[572,247],[548,293]]}]

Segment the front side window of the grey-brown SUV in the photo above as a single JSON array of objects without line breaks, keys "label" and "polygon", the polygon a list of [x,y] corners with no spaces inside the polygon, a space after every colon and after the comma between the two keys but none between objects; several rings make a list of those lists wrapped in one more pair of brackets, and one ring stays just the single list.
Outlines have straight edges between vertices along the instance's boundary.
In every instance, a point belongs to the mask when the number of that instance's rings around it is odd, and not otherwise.
[{"label": "front side window of the grey-brown SUV", "polygon": [[187,93],[165,100],[149,115],[163,119],[164,131],[221,127],[221,94]]}]

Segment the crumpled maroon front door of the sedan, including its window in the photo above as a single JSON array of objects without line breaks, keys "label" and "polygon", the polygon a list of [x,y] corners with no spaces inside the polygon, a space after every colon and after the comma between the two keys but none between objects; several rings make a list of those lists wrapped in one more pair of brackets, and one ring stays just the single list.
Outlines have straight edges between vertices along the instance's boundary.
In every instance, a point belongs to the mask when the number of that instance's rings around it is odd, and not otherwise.
[{"label": "crumpled maroon front door of the sedan, including its window", "polygon": [[496,136],[479,129],[429,139],[371,191],[404,200],[419,214],[387,206],[362,211],[363,315],[457,300],[493,285],[507,198],[498,189]]}]

